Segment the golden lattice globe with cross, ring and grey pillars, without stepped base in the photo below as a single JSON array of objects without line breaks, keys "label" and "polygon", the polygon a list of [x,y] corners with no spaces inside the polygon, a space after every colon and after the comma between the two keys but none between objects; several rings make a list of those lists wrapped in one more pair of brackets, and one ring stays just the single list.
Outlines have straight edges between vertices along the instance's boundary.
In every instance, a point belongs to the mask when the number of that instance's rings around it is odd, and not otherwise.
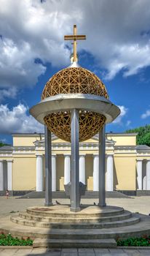
[{"label": "golden lattice globe with cross, ring and grey pillars, without stepped base", "polygon": [[99,206],[106,206],[105,195],[105,125],[114,121],[119,108],[109,99],[102,81],[92,72],[79,67],[76,41],[84,35],[65,36],[73,40],[71,65],[50,78],[42,101],[30,109],[31,115],[45,125],[45,206],[52,205],[51,132],[71,141],[71,211],[80,211],[79,141],[99,133]]}]

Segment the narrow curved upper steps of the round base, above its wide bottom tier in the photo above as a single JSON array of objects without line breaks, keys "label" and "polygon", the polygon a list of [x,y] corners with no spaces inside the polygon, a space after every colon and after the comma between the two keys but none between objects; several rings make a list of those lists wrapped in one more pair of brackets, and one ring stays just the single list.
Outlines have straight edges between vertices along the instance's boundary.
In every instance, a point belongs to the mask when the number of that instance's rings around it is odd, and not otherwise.
[{"label": "narrow curved upper steps of the round base, above its wide bottom tier", "polygon": [[[25,216],[25,214],[20,214],[19,217],[11,217],[12,222],[15,222],[20,225],[31,226],[31,227],[47,227],[47,228],[56,228],[56,229],[94,229],[94,228],[109,228],[109,227],[124,227],[127,225],[133,225],[140,221],[137,217],[130,217],[129,213],[119,215],[118,217],[102,217],[102,218],[38,218],[31,215]],[[25,219],[24,219],[25,218]],[[127,219],[129,218],[129,219]]]}]

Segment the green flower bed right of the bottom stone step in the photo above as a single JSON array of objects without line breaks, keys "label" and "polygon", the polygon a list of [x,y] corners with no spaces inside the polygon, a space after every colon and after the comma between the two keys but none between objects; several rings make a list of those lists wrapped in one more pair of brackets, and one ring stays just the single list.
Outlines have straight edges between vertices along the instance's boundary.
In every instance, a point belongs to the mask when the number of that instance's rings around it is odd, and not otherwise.
[{"label": "green flower bed right of the bottom stone step", "polygon": [[150,246],[150,236],[117,238],[117,246]]}]

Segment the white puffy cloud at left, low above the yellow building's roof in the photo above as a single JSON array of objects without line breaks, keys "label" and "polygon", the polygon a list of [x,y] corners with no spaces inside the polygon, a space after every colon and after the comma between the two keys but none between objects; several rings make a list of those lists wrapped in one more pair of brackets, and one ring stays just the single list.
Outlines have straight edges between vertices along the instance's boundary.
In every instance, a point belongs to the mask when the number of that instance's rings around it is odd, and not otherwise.
[{"label": "white puffy cloud at left, low above the yellow building's roof", "polygon": [[8,105],[0,105],[0,133],[44,132],[44,126],[27,113],[28,107],[21,103],[12,110],[8,108]]}]

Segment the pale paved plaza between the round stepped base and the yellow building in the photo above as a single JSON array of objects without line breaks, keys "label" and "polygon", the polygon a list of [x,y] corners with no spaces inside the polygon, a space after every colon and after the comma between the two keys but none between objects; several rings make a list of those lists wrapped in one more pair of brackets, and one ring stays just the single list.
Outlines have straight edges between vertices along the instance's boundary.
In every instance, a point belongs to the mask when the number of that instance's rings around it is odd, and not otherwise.
[{"label": "pale paved plaza between the round stepped base and the yellow building", "polygon": [[[57,199],[60,203],[70,203],[68,199]],[[53,200],[55,203],[55,200]],[[82,199],[82,204],[98,203],[98,199]],[[129,198],[108,198],[108,206],[120,206],[128,211],[140,214],[150,214],[150,196]],[[29,206],[44,206],[44,199],[15,199],[15,197],[0,197],[0,214],[9,214],[11,211],[25,211]]]}]

